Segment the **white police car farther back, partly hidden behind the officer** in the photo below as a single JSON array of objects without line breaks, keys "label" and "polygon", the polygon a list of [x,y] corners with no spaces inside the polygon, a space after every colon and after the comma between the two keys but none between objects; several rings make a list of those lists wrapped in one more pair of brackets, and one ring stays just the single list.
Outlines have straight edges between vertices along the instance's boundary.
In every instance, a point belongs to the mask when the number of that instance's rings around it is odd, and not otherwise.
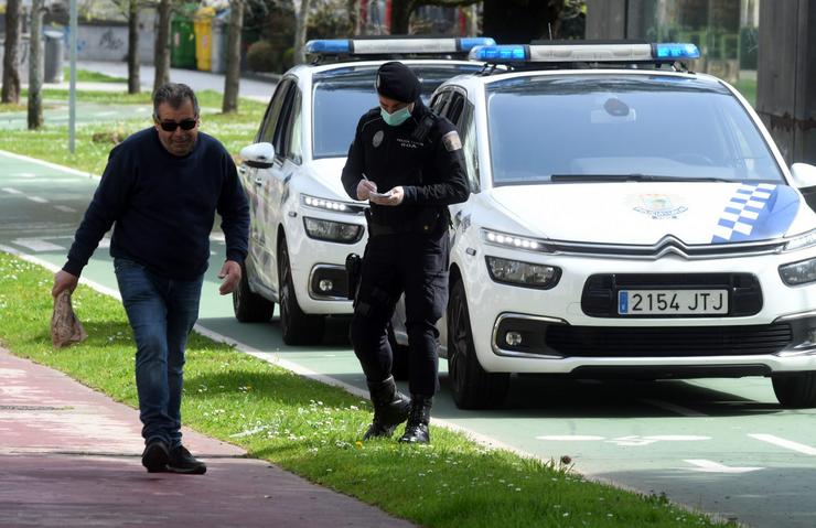
[{"label": "white police car farther back, partly hidden behind the officer", "polygon": [[[443,80],[476,72],[466,53],[492,39],[310,41],[309,65],[278,84],[255,143],[240,152],[250,203],[249,255],[233,295],[239,321],[268,321],[280,304],[283,341],[320,342],[326,315],[347,315],[346,255],[365,246],[367,203],[340,181],[359,117],[377,105],[374,78],[386,60],[412,67],[428,97]],[[444,56],[460,55],[452,61]],[[437,57],[437,58],[432,58]]]}]

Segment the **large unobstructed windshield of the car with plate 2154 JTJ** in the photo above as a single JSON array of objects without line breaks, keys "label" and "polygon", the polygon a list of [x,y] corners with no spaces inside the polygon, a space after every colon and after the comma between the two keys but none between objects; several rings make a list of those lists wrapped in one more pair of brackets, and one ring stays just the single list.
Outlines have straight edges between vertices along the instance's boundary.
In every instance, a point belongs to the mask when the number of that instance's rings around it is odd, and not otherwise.
[{"label": "large unobstructed windshield of the car with plate 2154 JTJ", "polygon": [[494,185],[784,183],[745,109],[719,83],[667,75],[526,77],[493,83],[486,97]]}]

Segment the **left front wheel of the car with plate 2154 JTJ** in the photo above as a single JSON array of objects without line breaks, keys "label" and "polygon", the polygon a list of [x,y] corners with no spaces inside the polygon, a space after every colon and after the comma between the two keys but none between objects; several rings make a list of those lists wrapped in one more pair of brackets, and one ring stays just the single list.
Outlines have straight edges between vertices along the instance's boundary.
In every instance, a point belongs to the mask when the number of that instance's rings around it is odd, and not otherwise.
[{"label": "left front wheel of the car with plate 2154 JTJ", "polygon": [[509,374],[486,373],[479,363],[461,280],[453,283],[448,303],[448,378],[460,409],[498,407],[509,388]]}]

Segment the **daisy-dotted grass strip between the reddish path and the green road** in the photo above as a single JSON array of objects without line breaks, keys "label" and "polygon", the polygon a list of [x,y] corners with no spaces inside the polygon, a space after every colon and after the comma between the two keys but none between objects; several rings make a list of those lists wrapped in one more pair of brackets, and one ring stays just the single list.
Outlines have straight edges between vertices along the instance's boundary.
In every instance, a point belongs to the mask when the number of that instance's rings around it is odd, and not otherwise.
[{"label": "daisy-dotted grass strip between the reddish path and the green road", "polygon": [[[120,303],[80,285],[74,308],[89,337],[55,351],[51,282],[42,268],[0,254],[0,342],[136,407]],[[429,446],[362,443],[367,401],[198,335],[187,346],[184,387],[185,424],[422,526],[722,526],[663,495],[587,482],[561,463],[487,450],[441,428],[432,427]]]}]

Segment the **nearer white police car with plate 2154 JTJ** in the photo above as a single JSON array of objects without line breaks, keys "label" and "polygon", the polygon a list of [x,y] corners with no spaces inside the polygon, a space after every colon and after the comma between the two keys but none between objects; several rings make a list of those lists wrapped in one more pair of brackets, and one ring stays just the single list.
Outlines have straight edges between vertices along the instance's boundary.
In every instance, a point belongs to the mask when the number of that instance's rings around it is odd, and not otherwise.
[{"label": "nearer white police car with plate 2154 JTJ", "polygon": [[788,170],[739,93],[677,67],[697,56],[486,46],[471,58],[511,71],[434,93],[473,188],[440,323],[459,407],[501,403],[511,373],[770,376],[783,406],[816,406],[816,168]]}]

